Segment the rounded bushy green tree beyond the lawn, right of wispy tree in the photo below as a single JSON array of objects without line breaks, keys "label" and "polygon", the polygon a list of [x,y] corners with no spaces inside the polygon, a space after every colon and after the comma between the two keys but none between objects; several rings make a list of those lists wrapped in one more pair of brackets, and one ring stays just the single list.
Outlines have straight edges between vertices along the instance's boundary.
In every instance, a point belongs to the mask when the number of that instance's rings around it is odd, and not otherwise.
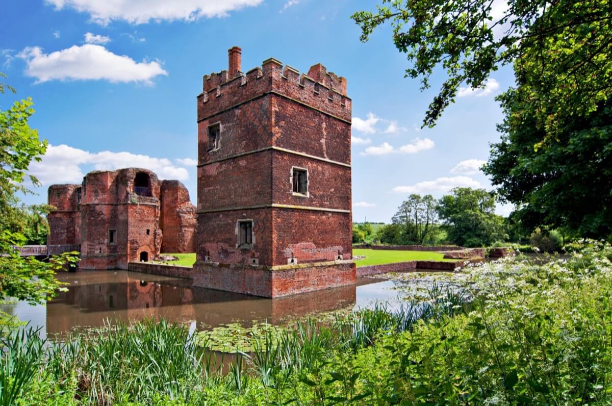
[{"label": "rounded bushy green tree beyond the lawn, right of wispy tree", "polygon": [[438,215],[451,241],[477,247],[507,239],[504,217],[494,213],[495,197],[491,192],[469,187],[455,187],[451,192],[438,203]]}]

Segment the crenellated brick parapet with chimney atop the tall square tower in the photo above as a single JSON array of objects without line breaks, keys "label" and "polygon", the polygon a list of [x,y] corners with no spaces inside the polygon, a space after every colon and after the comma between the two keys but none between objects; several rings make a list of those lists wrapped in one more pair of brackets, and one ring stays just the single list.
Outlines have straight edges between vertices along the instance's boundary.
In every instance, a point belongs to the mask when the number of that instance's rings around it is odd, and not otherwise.
[{"label": "crenellated brick parapet with chimney atop the tall square tower", "polygon": [[257,97],[278,94],[351,122],[351,99],[346,94],[345,78],[327,72],[321,64],[300,74],[299,70],[283,66],[274,58],[263,61],[261,67],[242,73],[239,61],[232,60],[236,58],[236,52],[231,52],[234,48],[230,50],[230,64],[234,64],[230,69],[235,70],[234,77],[228,70],[222,70],[203,78],[203,92],[198,95],[198,121]]}]

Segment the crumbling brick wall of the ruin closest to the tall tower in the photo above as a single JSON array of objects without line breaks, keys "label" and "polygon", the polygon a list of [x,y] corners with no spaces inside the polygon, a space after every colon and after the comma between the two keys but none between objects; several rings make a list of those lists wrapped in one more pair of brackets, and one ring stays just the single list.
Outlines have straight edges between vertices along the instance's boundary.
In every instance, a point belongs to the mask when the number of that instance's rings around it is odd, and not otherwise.
[{"label": "crumbling brick wall of the ruin closest to the tall tower", "polygon": [[162,181],[160,191],[162,252],[195,252],[196,210],[179,181]]}]

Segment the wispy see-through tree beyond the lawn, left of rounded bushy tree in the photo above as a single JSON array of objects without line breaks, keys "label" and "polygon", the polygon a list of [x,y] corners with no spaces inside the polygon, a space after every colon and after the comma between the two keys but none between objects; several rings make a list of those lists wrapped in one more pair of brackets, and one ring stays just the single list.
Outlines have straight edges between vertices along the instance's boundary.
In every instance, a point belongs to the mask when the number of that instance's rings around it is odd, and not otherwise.
[{"label": "wispy see-through tree beyond the lawn, left of rounded bushy tree", "polygon": [[423,244],[436,221],[436,200],[431,195],[412,194],[401,203],[391,221],[401,225],[406,243]]}]

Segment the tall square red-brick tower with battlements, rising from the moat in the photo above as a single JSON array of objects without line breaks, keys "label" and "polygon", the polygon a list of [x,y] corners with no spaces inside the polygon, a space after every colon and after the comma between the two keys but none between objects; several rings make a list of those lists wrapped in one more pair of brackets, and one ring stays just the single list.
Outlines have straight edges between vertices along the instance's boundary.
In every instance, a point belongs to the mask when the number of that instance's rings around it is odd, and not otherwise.
[{"label": "tall square red-brick tower with battlements, rising from the moat", "polygon": [[354,284],[346,79],[274,58],[204,77],[194,285],[276,297]]}]

